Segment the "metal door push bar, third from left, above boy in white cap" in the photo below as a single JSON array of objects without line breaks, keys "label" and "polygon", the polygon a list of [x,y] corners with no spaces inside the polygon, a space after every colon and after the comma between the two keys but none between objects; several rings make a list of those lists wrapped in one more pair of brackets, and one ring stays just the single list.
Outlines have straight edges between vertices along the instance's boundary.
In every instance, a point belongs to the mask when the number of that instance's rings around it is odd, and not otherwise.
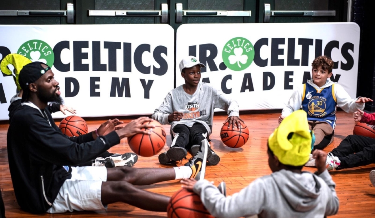
[{"label": "metal door push bar, third from left, above boy in white cap", "polygon": [[181,23],[183,16],[249,17],[251,10],[182,10],[182,3],[177,3],[176,23]]}]

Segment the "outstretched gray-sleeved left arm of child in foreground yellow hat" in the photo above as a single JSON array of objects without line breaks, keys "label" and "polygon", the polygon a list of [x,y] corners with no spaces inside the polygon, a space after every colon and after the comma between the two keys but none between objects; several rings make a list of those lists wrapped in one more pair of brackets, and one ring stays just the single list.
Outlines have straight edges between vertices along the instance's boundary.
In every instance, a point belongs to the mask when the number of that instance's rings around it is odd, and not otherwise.
[{"label": "outstretched gray-sleeved left arm of child in foreground yellow hat", "polygon": [[[188,185],[184,181],[188,182],[188,180],[181,180],[184,185]],[[193,191],[201,197],[208,212],[217,218],[238,218],[260,214],[267,205],[267,191],[262,179],[256,179],[248,187],[229,197],[225,197],[205,179],[197,181],[193,185]]]}]

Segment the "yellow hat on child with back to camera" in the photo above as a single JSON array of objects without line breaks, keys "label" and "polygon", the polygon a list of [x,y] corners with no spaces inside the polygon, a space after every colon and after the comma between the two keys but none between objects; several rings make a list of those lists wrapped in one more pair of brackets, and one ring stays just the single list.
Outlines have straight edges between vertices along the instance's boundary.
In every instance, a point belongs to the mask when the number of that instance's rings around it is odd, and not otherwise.
[{"label": "yellow hat on child with back to camera", "polygon": [[285,117],[268,138],[268,144],[280,163],[303,166],[311,153],[311,134],[306,112],[298,110]]}]

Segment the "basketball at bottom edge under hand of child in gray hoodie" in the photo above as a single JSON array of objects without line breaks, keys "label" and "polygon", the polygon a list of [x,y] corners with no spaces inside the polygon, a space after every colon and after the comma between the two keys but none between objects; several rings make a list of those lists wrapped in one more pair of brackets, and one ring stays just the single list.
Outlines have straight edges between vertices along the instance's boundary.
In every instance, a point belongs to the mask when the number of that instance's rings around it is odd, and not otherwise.
[{"label": "basketball at bottom edge under hand of child in gray hoodie", "polygon": [[200,197],[185,188],[178,190],[166,208],[168,218],[214,218],[201,202]]}]

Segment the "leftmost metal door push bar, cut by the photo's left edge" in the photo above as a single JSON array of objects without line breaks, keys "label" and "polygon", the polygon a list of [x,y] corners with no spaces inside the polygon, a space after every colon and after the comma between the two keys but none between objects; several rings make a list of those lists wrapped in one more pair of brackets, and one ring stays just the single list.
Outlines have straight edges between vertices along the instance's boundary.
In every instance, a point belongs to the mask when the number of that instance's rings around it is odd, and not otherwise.
[{"label": "leftmost metal door push bar, cut by the photo's left edge", "polygon": [[74,4],[66,4],[66,10],[0,10],[0,16],[59,16],[66,17],[66,22],[73,24]]}]

